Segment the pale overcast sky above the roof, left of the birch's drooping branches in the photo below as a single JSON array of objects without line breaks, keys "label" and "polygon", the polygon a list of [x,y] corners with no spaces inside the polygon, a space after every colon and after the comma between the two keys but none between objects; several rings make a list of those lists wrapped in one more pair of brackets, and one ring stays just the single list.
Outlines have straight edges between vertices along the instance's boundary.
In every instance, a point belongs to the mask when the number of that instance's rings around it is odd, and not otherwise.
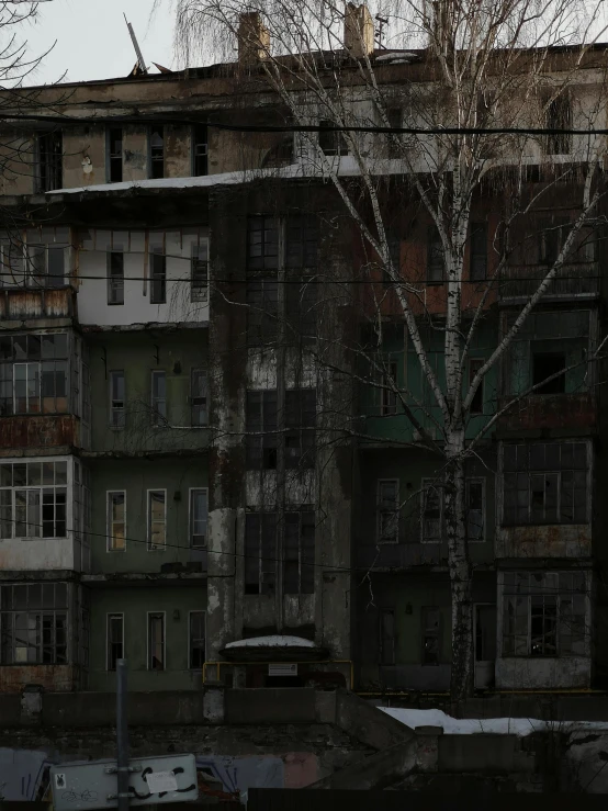
[{"label": "pale overcast sky above the roof, left of the birch's drooping branches", "polygon": [[27,85],[110,79],[127,76],[136,61],[123,18],[133,24],[146,64],[177,67],[173,58],[173,15],[169,3],[150,21],[151,0],[53,0],[41,3],[38,20],[27,31],[32,56],[45,57]]}]

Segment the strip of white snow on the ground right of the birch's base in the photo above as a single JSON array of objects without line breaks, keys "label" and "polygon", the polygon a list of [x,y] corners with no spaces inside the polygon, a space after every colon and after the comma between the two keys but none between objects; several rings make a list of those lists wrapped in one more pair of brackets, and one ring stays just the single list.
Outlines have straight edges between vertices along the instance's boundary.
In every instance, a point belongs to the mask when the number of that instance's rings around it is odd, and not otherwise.
[{"label": "strip of white snow on the ground right of the birch's base", "polygon": [[541,721],[538,718],[452,718],[443,710],[409,710],[399,707],[379,707],[387,716],[416,726],[442,726],[447,735],[519,735],[555,729],[562,732],[581,730],[608,730],[605,721]]}]

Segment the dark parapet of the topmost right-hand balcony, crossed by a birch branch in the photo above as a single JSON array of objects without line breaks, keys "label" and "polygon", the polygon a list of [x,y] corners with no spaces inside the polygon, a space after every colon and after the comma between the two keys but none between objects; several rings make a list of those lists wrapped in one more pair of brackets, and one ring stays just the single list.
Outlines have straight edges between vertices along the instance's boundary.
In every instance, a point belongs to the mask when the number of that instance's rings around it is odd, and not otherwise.
[{"label": "dark parapet of the topmost right-hand balcony, crossed by a birch branch", "polygon": [[[544,264],[510,266],[503,272],[498,286],[502,303],[529,299],[548,272]],[[599,295],[599,262],[564,264],[543,299],[593,299]]]}]

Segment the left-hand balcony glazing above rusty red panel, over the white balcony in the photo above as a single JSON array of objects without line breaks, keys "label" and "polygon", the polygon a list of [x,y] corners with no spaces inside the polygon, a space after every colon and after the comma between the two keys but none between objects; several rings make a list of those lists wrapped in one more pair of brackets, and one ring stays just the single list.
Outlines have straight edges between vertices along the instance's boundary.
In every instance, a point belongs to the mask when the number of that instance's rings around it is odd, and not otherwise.
[{"label": "left-hand balcony glazing above rusty red panel, over the white balcony", "polygon": [[67,414],[68,337],[0,336],[0,416]]}]

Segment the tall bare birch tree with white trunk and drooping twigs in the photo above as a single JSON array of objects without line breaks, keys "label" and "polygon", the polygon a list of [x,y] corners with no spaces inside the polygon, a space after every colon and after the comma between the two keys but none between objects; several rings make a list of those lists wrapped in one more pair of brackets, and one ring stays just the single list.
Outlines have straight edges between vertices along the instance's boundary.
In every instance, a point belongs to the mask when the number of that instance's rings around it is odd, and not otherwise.
[{"label": "tall bare birch tree with white trunk and drooping twigs", "polygon": [[[374,385],[398,397],[418,441],[440,460],[452,605],[451,695],[465,698],[474,672],[465,464],[530,388],[496,403],[474,436],[466,435],[471,406],[534,307],[572,273],[573,254],[603,222],[606,138],[593,134],[606,116],[605,56],[595,48],[604,32],[601,2],[389,0],[369,13],[331,0],[258,0],[251,13],[244,0],[178,0],[177,11],[178,44],[187,60],[202,48],[207,58],[232,61],[235,43],[248,43],[255,59],[243,80],[273,94],[295,129],[294,173],[334,185],[362,246],[359,273],[369,281],[365,313],[378,347],[389,297],[404,325],[432,407],[404,394],[371,353],[368,360],[381,382],[373,375],[368,382],[373,378]],[[387,20],[380,49],[373,43],[374,12]],[[328,138],[335,138],[333,148]],[[566,187],[575,212],[568,227],[550,225],[542,235],[530,234],[534,213],[550,209]],[[487,196],[499,201],[499,214],[486,278],[473,284],[465,261],[471,221]],[[389,221],[395,200],[414,206],[436,232],[440,307],[428,305],[428,277],[403,251],[392,250]],[[488,308],[513,279],[518,251],[540,239],[553,240],[555,249],[547,251],[516,316],[469,379],[464,370]],[[353,296],[358,291],[360,285]],[[429,335],[441,338],[440,372],[429,361]]]}]

